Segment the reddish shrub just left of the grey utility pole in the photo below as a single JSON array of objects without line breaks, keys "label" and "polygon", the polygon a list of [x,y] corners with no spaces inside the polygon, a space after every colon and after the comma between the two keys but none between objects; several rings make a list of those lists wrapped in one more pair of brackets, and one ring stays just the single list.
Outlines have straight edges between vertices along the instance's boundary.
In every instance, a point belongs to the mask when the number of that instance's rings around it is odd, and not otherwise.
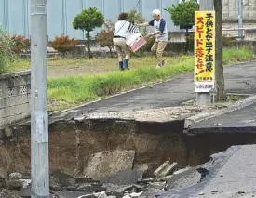
[{"label": "reddish shrub just left of the grey utility pole", "polygon": [[31,41],[21,35],[13,35],[10,37],[11,51],[15,54],[20,54],[30,49]]}]

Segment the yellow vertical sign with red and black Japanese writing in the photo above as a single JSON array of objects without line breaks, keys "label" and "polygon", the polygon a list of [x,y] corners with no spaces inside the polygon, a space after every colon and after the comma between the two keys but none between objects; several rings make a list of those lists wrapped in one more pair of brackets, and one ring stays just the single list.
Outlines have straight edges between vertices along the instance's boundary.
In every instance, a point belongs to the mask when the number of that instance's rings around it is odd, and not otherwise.
[{"label": "yellow vertical sign with red and black Japanese writing", "polygon": [[195,92],[214,89],[215,12],[195,11]]}]

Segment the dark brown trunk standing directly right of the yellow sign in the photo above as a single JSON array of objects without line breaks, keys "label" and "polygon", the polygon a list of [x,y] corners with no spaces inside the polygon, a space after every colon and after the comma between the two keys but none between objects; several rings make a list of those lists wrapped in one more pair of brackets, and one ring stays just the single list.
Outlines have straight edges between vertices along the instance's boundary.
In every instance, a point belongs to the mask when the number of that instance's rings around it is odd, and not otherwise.
[{"label": "dark brown trunk standing directly right of the yellow sign", "polygon": [[223,73],[223,35],[222,35],[222,0],[214,0],[215,9],[215,81],[216,99],[225,99],[225,83]]}]

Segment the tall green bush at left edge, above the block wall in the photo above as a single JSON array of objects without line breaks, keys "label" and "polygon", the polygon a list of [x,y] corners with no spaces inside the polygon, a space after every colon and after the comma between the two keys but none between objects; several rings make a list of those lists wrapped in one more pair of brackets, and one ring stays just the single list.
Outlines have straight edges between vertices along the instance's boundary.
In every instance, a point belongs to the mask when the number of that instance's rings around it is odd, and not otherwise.
[{"label": "tall green bush at left edge, above the block wall", "polygon": [[7,73],[10,68],[8,63],[14,58],[11,52],[11,41],[6,31],[0,26],[0,74]]}]

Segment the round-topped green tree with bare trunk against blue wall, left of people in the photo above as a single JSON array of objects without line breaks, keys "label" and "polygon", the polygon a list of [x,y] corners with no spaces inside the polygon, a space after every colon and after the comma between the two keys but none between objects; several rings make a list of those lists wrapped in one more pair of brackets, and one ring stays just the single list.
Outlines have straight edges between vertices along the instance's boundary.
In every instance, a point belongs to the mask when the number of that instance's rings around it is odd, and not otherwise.
[{"label": "round-topped green tree with bare trunk against blue wall, left of people", "polygon": [[89,7],[82,10],[81,13],[74,17],[73,27],[75,30],[86,32],[88,56],[91,58],[90,51],[90,32],[95,28],[100,28],[104,24],[104,15],[97,7]]}]

